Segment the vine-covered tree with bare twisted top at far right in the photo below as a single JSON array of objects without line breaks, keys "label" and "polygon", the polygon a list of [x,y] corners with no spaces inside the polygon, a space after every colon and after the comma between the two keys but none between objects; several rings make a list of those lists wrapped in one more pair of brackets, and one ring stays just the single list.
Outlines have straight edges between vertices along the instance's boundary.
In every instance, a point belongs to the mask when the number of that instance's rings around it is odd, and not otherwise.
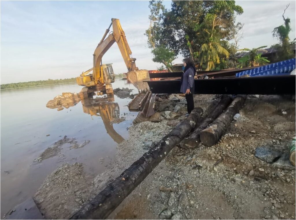
[{"label": "vine-covered tree with bare twisted top at far right", "polygon": [[284,9],[284,13],[282,15],[284,19],[284,25],[274,28],[272,32],[273,37],[277,38],[281,44],[279,57],[282,60],[291,59],[295,56],[290,46],[290,38],[289,38],[289,33],[291,31],[290,19],[284,17],[284,14],[287,8],[289,7],[289,5],[290,4],[286,6],[286,9]]}]

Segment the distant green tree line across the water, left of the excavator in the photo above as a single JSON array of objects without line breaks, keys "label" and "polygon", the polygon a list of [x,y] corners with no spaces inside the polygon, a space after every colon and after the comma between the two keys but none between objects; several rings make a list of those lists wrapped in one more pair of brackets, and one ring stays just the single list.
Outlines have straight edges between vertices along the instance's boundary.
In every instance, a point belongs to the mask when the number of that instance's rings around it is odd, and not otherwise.
[{"label": "distant green tree line across the water, left of the excavator", "polygon": [[52,84],[60,84],[60,83],[74,83],[76,82],[76,78],[70,79],[59,79],[59,80],[39,80],[39,81],[30,81],[24,83],[9,83],[0,85],[0,89],[12,89],[12,88],[23,88],[29,86],[38,86],[38,85],[52,85]]}]

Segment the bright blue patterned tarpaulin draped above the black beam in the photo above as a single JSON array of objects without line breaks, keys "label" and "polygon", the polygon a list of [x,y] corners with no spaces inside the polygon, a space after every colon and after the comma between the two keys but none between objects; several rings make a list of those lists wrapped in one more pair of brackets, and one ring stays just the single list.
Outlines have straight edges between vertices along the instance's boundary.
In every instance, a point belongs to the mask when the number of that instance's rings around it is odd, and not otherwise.
[{"label": "bright blue patterned tarpaulin draped above the black beam", "polygon": [[295,58],[284,60],[277,63],[272,63],[263,67],[257,67],[254,69],[238,72],[235,76],[241,77],[243,75],[249,76],[268,76],[268,75],[289,75],[296,67]]}]

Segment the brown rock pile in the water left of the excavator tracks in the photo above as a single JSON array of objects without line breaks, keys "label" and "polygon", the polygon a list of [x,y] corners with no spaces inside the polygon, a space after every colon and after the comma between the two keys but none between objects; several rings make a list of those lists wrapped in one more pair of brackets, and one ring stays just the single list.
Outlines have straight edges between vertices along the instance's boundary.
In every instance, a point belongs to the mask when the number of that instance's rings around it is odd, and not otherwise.
[{"label": "brown rock pile in the water left of the excavator tracks", "polygon": [[57,108],[58,111],[61,111],[64,108],[67,109],[71,106],[75,106],[80,101],[78,93],[62,93],[62,96],[58,95],[54,97],[53,100],[49,100],[46,107],[50,109]]}]

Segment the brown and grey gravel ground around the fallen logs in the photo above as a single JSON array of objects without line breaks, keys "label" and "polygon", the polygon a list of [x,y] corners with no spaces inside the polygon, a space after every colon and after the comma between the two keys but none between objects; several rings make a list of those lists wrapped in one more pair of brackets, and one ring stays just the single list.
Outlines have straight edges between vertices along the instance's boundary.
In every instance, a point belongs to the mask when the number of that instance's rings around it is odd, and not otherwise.
[{"label": "brown and grey gravel ground around the fallen logs", "polygon": [[[205,114],[218,102],[213,95],[196,95],[194,101]],[[109,219],[295,219],[295,167],[268,164],[254,156],[258,146],[289,151],[295,137],[295,101],[248,98],[240,114],[216,145],[193,150],[176,146]],[[172,121],[131,126],[130,138],[118,145],[114,162],[94,179],[84,174],[81,164],[59,168],[36,194],[38,207],[46,218],[69,218],[163,138],[174,126]],[[54,185],[54,179],[59,184]],[[50,193],[49,185],[57,193]],[[72,202],[65,205],[69,197]]]}]

